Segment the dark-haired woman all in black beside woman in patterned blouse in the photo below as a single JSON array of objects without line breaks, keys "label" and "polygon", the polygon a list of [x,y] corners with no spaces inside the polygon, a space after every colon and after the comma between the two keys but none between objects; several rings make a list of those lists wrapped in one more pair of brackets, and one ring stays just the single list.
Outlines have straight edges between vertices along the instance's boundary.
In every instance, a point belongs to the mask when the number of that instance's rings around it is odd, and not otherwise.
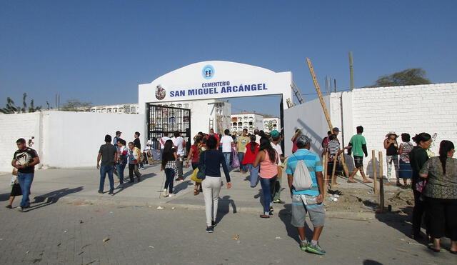
[{"label": "dark-haired woman all in black beside woman in patterned blouse", "polygon": [[428,160],[427,149],[431,145],[431,135],[425,132],[416,134],[413,141],[417,144],[409,153],[409,162],[411,169],[413,169],[412,189],[414,194],[414,208],[413,208],[413,239],[421,239],[421,222],[422,215],[425,212],[425,203],[422,198],[422,189],[425,185],[424,179],[419,177],[423,164]]}]

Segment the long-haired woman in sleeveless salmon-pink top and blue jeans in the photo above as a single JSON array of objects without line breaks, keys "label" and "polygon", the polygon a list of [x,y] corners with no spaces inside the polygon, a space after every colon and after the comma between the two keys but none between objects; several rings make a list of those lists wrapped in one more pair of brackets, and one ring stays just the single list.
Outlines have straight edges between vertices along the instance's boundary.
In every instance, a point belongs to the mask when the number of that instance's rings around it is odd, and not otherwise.
[{"label": "long-haired woman in sleeveless salmon-pink top and blue jeans", "polygon": [[261,137],[260,147],[253,166],[260,164],[261,167],[260,184],[263,193],[263,214],[261,214],[260,218],[263,219],[269,219],[273,212],[271,201],[273,201],[273,188],[278,176],[278,159],[278,152],[273,149],[270,140],[266,136]]}]

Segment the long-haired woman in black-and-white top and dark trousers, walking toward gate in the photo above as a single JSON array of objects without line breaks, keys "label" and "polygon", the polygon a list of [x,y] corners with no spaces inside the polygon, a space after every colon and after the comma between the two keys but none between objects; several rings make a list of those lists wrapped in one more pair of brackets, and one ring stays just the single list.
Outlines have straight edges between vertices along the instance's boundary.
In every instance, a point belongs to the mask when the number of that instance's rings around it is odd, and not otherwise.
[{"label": "long-haired woman in black-and-white top and dark trousers, walking toward gate", "polygon": [[[173,148],[173,141],[166,140],[164,146],[164,156],[162,157],[162,167],[161,171],[165,171],[165,186],[163,195],[166,196],[174,196],[173,194],[173,184],[174,184],[174,176],[178,172],[176,168],[176,159],[178,159],[178,154],[176,153],[176,149]],[[169,189],[167,193],[167,189]]]}]

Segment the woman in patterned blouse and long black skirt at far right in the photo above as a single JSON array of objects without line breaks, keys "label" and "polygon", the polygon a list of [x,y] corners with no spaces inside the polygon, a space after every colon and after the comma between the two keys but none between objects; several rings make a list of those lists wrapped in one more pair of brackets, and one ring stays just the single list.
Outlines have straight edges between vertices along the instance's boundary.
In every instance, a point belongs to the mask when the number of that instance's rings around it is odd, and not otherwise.
[{"label": "woman in patterned blouse and long black skirt at far right", "polygon": [[428,231],[433,239],[431,250],[441,250],[440,239],[448,235],[451,253],[457,254],[457,159],[453,159],[454,144],[441,141],[440,156],[428,159],[420,176],[428,179],[423,191],[426,196]]}]

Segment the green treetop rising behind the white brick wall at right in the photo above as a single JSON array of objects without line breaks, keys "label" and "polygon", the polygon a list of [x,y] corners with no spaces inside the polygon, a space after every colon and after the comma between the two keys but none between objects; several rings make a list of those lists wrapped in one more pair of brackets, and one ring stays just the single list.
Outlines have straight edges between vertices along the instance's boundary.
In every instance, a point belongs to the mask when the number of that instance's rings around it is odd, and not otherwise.
[{"label": "green treetop rising behind the white brick wall at right", "polygon": [[426,71],[421,68],[411,68],[381,76],[373,86],[412,86],[421,84],[431,84],[431,81],[426,78]]}]

